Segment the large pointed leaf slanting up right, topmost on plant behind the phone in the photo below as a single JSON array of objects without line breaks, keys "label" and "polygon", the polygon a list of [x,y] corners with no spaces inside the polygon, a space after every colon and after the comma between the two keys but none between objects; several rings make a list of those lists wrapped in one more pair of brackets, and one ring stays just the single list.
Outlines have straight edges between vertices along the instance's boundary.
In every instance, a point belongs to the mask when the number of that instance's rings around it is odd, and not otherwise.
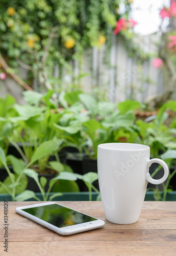
[{"label": "large pointed leaf slanting up right, topmost on plant behind the phone", "polygon": [[36,151],[34,152],[34,155],[32,156],[30,163],[34,163],[35,161],[39,160],[42,157],[45,157],[47,155],[52,155],[54,152],[57,152],[61,144],[62,144],[62,140],[44,141],[37,147]]}]

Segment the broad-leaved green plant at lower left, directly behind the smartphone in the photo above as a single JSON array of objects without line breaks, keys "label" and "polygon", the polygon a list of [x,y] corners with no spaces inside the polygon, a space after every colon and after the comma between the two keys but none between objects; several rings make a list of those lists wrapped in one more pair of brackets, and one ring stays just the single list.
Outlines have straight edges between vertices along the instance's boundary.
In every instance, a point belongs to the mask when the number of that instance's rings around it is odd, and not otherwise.
[{"label": "broad-leaved green plant at lower left, directly behind the smartphone", "polygon": [[[54,140],[54,141],[51,140],[51,141],[43,142],[42,144],[40,144],[40,146],[37,147],[36,151],[32,156],[31,161],[28,164],[26,164],[22,159],[17,159],[12,155],[9,155],[6,157],[3,149],[0,147],[0,159],[8,173],[8,177],[5,179],[5,181],[0,182],[1,193],[5,193],[5,192],[8,193],[9,195],[12,196],[12,200],[17,200],[17,199],[19,200],[19,198],[21,199],[21,197],[23,197],[23,200],[27,200],[31,198],[31,195],[34,196],[35,194],[33,191],[26,190],[27,183],[28,183],[26,176],[29,176],[36,181],[41,191],[41,194],[43,196],[43,200],[48,200],[49,192],[51,191],[52,187],[56,183],[57,179],[53,179],[52,181],[49,182],[49,188],[47,193],[45,194],[44,187],[46,185],[47,180],[45,177],[41,177],[39,180],[38,173],[35,172],[35,170],[32,169],[32,167],[33,167],[33,164],[39,159],[45,158],[48,155],[50,155],[52,152],[57,151],[61,143],[62,141],[60,140]],[[10,172],[7,164],[7,160],[11,162],[13,166],[14,174]],[[61,164],[60,162],[51,161],[51,162],[48,162],[47,166],[49,168],[54,169],[57,173],[64,172],[66,170],[67,173],[70,174],[71,176],[70,168],[64,164]],[[70,180],[70,179],[66,179],[66,180]],[[20,194],[17,196],[17,199],[16,199],[16,194]],[[57,195],[59,194],[56,194],[56,196]]]}]

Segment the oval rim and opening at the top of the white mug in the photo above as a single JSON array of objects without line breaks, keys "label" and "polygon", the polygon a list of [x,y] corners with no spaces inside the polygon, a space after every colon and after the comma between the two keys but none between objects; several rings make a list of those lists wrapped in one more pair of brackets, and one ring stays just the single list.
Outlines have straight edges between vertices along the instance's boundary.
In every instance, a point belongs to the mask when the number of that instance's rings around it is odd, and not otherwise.
[{"label": "oval rim and opening at the top of the white mug", "polygon": [[[122,146],[124,148],[118,148],[118,147],[116,148],[116,146]],[[101,148],[103,150],[112,150],[112,151],[141,151],[141,150],[150,149],[149,146],[147,145],[137,144],[137,143],[125,143],[125,142],[124,143],[121,143],[121,142],[102,143],[98,145],[98,148]]]}]

